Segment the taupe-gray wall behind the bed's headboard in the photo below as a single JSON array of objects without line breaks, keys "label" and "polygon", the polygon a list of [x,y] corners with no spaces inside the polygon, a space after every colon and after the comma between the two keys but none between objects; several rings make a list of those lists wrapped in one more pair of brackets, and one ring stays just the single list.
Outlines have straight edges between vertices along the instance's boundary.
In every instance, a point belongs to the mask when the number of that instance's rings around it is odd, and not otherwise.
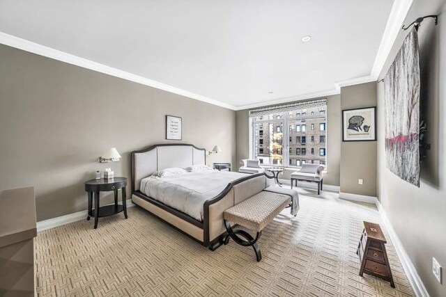
[{"label": "taupe-gray wall behind the bed's headboard", "polygon": [[[164,139],[165,115],[183,118],[177,142],[220,145],[207,163],[235,166],[235,111],[4,45],[0,100],[0,190],[35,186],[38,220],[86,209],[84,182],[96,168],[130,179],[132,150],[174,143]],[[98,163],[109,147],[121,161]]]}]

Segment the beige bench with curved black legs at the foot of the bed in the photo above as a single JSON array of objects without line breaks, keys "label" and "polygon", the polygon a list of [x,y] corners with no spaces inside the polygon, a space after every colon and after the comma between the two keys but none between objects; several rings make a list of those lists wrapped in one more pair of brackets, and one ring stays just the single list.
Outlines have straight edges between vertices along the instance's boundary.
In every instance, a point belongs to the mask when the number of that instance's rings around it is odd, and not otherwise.
[{"label": "beige bench with curved black legs at the foot of the bed", "polygon": [[[233,207],[226,209],[223,213],[224,226],[228,235],[224,239],[224,244],[233,239],[241,246],[252,246],[256,253],[257,262],[260,262],[262,255],[257,241],[261,232],[268,223],[272,221],[285,207],[291,203],[291,196],[268,191],[247,198]],[[245,230],[233,230],[231,223],[243,226],[249,230],[256,231],[256,238],[251,236]],[[245,239],[240,238],[243,236]]]}]

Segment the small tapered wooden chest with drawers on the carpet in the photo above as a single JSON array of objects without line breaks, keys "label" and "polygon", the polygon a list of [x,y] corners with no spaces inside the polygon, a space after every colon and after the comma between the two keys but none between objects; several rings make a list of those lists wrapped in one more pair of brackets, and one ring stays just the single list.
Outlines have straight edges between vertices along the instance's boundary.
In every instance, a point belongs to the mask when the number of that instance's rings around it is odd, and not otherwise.
[{"label": "small tapered wooden chest with drawers on the carpet", "polygon": [[394,288],[395,284],[390,271],[389,259],[385,251],[385,240],[383,231],[378,224],[364,222],[360,243],[357,246],[357,255],[360,256],[360,275],[366,273],[387,280]]}]

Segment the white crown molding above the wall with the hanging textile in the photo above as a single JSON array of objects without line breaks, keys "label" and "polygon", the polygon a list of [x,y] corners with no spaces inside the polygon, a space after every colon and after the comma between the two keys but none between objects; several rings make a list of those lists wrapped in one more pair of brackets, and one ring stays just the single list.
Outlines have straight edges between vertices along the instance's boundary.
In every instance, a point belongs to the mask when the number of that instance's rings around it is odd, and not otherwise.
[{"label": "white crown molding above the wall with the hanging textile", "polygon": [[397,40],[398,33],[401,31],[401,26],[403,26],[404,19],[406,19],[412,3],[413,0],[395,0],[393,3],[383,38],[375,57],[374,66],[371,69],[371,77],[374,77],[375,80],[378,80],[379,74],[383,70],[385,61],[392,50],[395,40]]}]

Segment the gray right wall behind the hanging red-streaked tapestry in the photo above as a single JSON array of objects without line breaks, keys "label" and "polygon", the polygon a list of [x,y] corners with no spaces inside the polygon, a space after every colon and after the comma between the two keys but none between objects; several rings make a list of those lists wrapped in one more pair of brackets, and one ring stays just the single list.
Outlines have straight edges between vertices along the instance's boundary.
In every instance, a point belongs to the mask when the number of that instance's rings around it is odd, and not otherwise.
[{"label": "gray right wall behind the hanging red-streaked tapestry", "polygon": [[[415,0],[405,24],[438,14],[438,25],[425,19],[420,26],[421,103],[425,107],[431,150],[422,163],[420,188],[385,168],[384,131],[378,134],[378,198],[422,278],[430,296],[446,296],[446,19],[445,1]],[[401,31],[387,59],[384,77],[407,32]],[[378,83],[378,125],[384,123],[383,83]],[[443,266],[443,285],[432,274],[432,257]]]}]

